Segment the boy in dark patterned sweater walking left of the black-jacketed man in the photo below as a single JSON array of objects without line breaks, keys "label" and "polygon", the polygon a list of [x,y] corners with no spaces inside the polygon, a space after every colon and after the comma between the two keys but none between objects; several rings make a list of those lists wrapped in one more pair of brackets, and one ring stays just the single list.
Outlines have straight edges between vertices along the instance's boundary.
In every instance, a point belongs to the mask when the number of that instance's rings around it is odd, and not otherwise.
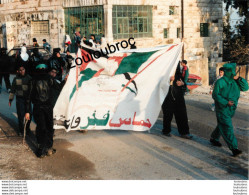
[{"label": "boy in dark patterned sweater walking left of the black-jacketed man", "polygon": [[[28,84],[31,80],[31,77],[25,73],[25,67],[21,64],[17,70],[17,76],[14,78],[12,82],[12,87],[9,95],[9,106],[16,95],[16,111],[18,117],[18,135],[23,135],[24,125],[23,119],[25,116],[25,100],[28,96]],[[30,117],[31,118],[31,117]],[[28,121],[26,125],[27,134],[30,133],[30,121]]]}]

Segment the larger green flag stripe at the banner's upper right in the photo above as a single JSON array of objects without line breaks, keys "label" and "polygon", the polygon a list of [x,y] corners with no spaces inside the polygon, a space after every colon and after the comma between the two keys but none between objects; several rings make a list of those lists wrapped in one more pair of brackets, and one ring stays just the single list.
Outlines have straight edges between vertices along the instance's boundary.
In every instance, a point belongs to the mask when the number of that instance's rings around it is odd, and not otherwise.
[{"label": "larger green flag stripe at the banner's upper right", "polygon": [[126,72],[137,73],[139,67],[146,62],[152,54],[157,51],[132,53],[130,56],[125,57],[116,71],[115,75],[123,74]]}]

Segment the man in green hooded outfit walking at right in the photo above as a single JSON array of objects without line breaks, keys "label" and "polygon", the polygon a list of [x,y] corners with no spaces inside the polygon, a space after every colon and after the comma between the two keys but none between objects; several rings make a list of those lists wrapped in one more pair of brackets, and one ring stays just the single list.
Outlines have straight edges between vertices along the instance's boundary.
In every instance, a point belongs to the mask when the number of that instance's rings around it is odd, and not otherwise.
[{"label": "man in green hooded outfit walking at right", "polygon": [[224,76],[217,80],[213,91],[218,125],[211,134],[210,142],[220,147],[219,138],[222,136],[233,156],[238,156],[242,151],[238,149],[237,139],[234,136],[232,117],[237,108],[240,91],[247,91],[248,83],[236,76],[235,63],[225,64],[223,67]]}]

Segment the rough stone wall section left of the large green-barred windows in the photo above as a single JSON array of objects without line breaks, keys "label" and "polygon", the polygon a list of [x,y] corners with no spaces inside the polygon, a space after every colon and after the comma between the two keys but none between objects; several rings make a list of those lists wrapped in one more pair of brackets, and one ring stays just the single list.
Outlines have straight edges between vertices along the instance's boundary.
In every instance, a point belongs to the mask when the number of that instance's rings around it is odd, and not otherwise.
[{"label": "rough stone wall section left of the large green-barred windows", "polygon": [[[29,0],[17,1],[0,5],[0,25],[7,30],[7,46],[26,43],[32,45],[35,37],[38,44],[42,45],[42,39],[46,39],[52,47],[63,47],[65,37],[64,11],[62,1],[57,0]],[[31,21],[49,21],[49,33],[32,34]],[[10,26],[9,28],[7,28]],[[8,33],[14,31],[15,33]],[[3,35],[0,36],[4,42]]]}]

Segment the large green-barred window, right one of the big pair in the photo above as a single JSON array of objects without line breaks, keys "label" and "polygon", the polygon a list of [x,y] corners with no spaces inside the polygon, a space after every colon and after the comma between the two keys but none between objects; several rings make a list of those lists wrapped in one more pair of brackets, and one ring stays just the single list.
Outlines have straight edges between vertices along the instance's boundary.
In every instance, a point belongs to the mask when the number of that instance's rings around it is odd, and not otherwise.
[{"label": "large green-barred window, right one of the big pair", "polygon": [[152,6],[119,6],[112,8],[114,39],[152,37]]}]

